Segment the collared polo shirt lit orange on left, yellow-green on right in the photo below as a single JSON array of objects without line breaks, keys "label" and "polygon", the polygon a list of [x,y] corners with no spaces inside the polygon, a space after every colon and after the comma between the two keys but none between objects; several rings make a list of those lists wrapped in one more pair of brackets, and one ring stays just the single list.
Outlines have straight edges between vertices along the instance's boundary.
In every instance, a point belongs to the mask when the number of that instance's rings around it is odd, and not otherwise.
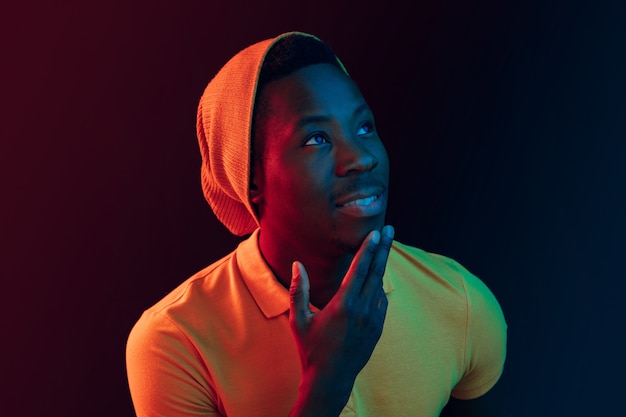
[{"label": "collared polo shirt lit orange on left, yellow-green on right", "polygon": [[[342,416],[438,416],[498,380],[506,323],[489,289],[457,262],[394,242],[382,336]],[[146,310],[128,339],[133,404],[144,416],[287,416],[300,381],[289,292],[258,230]]]}]

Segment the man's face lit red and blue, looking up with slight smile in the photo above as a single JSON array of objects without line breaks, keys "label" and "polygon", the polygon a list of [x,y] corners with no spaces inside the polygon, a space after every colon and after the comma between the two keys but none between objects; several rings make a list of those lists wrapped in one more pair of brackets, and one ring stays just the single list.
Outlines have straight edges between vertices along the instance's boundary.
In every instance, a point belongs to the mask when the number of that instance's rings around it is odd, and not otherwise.
[{"label": "man's face lit red and blue, looking up with slight smile", "polygon": [[255,130],[261,233],[292,250],[355,251],[384,225],[389,162],[353,81],[330,64],[270,82]]}]

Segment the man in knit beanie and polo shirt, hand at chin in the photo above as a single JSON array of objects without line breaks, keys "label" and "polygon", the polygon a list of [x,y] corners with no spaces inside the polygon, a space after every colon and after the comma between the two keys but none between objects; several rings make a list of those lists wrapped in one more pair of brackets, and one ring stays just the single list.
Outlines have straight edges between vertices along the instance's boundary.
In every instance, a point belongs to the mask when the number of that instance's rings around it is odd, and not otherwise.
[{"label": "man in knit beanie and polo shirt, hand at chin", "polygon": [[133,328],[138,416],[507,415],[502,311],[457,262],[393,241],[387,154],[328,45],[240,51],[197,127],[205,197],[249,236]]}]

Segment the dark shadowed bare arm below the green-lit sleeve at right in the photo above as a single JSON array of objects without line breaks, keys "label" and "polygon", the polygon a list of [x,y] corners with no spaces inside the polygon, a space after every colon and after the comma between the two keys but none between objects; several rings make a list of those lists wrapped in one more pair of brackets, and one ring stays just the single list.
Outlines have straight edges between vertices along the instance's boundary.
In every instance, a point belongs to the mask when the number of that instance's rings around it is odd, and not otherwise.
[{"label": "dark shadowed bare arm below the green-lit sleeve at right", "polygon": [[440,417],[510,417],[509,391],[506,374],[502,373],[496,384],[484,395],[472,400],[450,401]]}]

